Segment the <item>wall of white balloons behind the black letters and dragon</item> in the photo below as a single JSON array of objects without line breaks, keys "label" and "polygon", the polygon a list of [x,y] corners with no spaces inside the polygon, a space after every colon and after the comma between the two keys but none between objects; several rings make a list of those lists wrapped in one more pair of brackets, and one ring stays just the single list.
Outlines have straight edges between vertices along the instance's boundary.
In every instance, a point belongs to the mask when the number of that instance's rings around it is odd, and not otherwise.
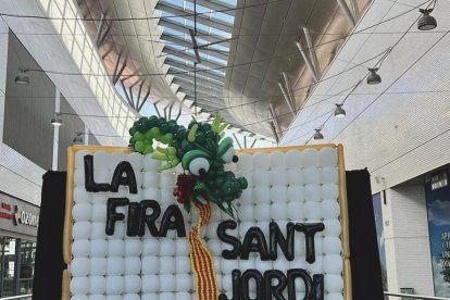
[{"label": "wall of white balloons behind the black letters and dragon", "polygon": [[[127,187],[117,192],[88,192],[85,189],[84,155],[93,155],[95,180],[110,183],[115,166],[128,161],[135,171],[138,193],[132,195]],[[130,202],[153,199],[161,204],[161,215],[170,204],[176,203],[173,188],[180,170],[157,172],[159,161],[151,154],[122,154],[78,151],[75,155],[73,243],[71,272],[71,299],[196,299],[196,282],[189,261],[189,246],[186,238],[176,237],[170,230],[167,237],[155,238],[146,227],[143,237],[126,236],[126,217],[115,223],[112,236],[105,235],[107,201],[110,197],[126,197]],[[232,299],[232,272],[255,268],[261,273],[276,268],[304,268],[311,274],[324,274],[325,299],[342,299],[342,260],[338,203],[337,150],[308,149],[287,153],[257,153],[239,155],[237,166],[226,166],[245,176],[249,187],[236,200],[238,227],[230,235],[243,239],[247,230],[258,226],[268,240],[268,224],[275,221],[286,235],[286,224],[321,223],[325,230],[315,236],[313,264],[305,261],[305,242],[301,233],[295,236],[295,260],[287,261],[278,250],[276,261],[261,261],[252,253],[249,260],[225,260],[223,250],[229,245],[217,238],[216,228],[221,221],[229,217],[213,205],[212,220],[203,236],[214,257],[218,289]],[[117,212],[127,215],[126,207]],[[186,233],[192,221],[182,208]],[[160,216],[161,218],[161,216]],[[159,224],[159,222],[157,222]],[[157,225],[158,226],[158,225]],[[296,282],[297,299],[302,299],[304,286]],[[254,295],[254,285],[250,285]],[[287,292],[287,291],[286,291]],[[287,299],[287,296],[286,296]]]}]

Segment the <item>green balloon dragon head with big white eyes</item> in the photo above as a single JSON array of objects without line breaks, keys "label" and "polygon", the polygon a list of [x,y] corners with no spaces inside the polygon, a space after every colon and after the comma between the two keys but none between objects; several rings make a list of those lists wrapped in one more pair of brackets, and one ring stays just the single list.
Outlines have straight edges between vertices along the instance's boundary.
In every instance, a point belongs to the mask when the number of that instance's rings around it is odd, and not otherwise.
[{"label": "green balloon dragon head with big white eyes", "polygon": [[[225,171],[226,163],[237,162],[233,139],[224,138],[228,124],[218,114],[212,124],[192,121],[188,128],[175,120],[150,116],[140,117],[129,128],[129,147],[142,154],[153,153],[152,159],[164,161],[159,172],[182,163],[184,174],[178,175],[174,196],[187,212],[195,202],[214,203],[234,217],[233,201],[239,198],[248,183]],[[158,141],[166,148],[157,147]]]}]

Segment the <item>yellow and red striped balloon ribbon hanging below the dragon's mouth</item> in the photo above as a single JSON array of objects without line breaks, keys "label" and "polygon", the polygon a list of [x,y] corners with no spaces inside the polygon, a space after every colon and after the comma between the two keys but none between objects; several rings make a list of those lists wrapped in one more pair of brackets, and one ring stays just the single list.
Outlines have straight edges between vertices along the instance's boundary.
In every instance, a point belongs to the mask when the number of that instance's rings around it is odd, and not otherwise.
[{"label": "yellow and red striped balloon ribbon hanging below the dragon's mouth", "polygon": [[210,222],[211,207],[210,203],[192,202],[193,208],[199,213],[199,220],[190,229],[188,241],[190,246],[190,264],[196,276],[197,300],[217,300],[218,288],[214,262],[200,237],[201,227]]}]

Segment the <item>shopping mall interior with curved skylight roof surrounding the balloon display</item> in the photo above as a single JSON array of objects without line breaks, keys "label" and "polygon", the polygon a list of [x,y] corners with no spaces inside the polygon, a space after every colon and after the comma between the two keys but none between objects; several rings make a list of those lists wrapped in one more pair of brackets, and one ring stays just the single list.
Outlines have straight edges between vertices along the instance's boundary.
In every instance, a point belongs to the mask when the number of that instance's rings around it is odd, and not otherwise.
[{"label": "shopping mall interior with curved skylight roof surrounding the balloon display", "polygon": [[446,0],[0,0],[0,299],[33,293],[42,176],[67,171],[67,147],[127,147],[141,116],[217,113],[236,149],[342,145],[346,170],[371,175],[386,299],[450,299],[449,13]]}]

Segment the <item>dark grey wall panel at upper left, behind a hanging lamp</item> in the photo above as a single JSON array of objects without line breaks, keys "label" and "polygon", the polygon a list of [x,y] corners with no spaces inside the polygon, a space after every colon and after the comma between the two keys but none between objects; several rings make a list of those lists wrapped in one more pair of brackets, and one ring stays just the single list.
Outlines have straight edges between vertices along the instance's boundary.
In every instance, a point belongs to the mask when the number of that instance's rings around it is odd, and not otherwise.
[{"label": "dark grey wall panel at upper left, behind a hanging lamp", "polygon": [[10,30],[3,142],[42,168],[52,163],[55,87],[43,72],[29,72],[29,85],[15,83],[18,68],[42,68]]}]

